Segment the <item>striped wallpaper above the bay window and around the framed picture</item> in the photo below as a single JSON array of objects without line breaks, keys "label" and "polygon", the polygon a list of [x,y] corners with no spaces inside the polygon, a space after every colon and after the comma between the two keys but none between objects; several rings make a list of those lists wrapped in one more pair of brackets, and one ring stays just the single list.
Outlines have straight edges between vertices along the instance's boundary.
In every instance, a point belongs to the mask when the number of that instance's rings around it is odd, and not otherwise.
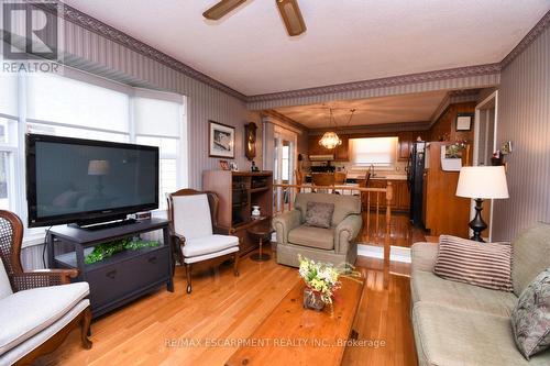
[{"label": "striped wallpaper above the bay window and around the framed picture", "polygon": [[243,101],[70,21],[64,22],[64,29],[67,65],[127,84],[187,96],[189,187],[200,189],[202,170],[218,168],[218,158],[208,157],[208,120],[237,127],[235,162],[241,169],[250,167],[244,157],[244,124],[255,122],[256,163],[262,166],[260,114],[249,111]]}]

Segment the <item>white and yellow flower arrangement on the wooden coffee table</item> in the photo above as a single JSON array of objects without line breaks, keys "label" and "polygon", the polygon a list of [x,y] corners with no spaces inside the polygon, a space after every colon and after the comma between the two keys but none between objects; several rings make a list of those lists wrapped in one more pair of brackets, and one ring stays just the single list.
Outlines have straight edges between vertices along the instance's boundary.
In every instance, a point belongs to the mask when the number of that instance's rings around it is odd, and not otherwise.
[{"label": "white and yellow flower arrangement on the wooden coffee table", "polygon": [[318,293],[323,303],[332,303],[334,291],[340,288],[338,280],[340,271],[330,264],[316,263],[301,256],[298,258],[300,262],[299,274],[306,286],[312,292]]}]

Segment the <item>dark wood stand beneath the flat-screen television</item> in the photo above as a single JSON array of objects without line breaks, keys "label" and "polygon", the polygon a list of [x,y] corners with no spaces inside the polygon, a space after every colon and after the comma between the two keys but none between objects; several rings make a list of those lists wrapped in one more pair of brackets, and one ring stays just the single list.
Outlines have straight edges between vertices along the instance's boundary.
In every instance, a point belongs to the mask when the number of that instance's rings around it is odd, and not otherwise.
[{"label": "dark wood stand beneath the flat-screen television", "polygon": [[[163,231],[163,243],[156,247],[124,251],[94,264],[85,264],[85,249],[156,230]],[[72,252],[56,254],[54,243],[68,244]],[[94,318],[166,285],[174,291],[168,221],[150,219],[101,230],[55,226],[47,233],[47,257],[53,268],[77,268],[77,281],[90,285]]]}]

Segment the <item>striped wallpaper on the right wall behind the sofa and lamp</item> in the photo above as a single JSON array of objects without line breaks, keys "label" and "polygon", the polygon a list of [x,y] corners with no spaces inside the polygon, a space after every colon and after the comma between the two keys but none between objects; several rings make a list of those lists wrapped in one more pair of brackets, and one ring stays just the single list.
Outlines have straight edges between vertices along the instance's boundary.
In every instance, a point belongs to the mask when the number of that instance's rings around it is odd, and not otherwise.
[{"label": "striped wallpaper on the right wall behind the sofa and lamp", "polygon": [[510,240],[537,221],[550,222],[550,27],[502,71],[497,146],[512,141],[510,198],[496,200],[495,240]]}]

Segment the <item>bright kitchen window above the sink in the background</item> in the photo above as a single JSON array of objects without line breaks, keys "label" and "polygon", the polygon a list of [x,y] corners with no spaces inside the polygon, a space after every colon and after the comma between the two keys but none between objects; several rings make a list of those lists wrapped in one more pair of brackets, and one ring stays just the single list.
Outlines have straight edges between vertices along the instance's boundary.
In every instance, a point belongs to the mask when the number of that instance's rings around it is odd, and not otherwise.
[{"label": "bright kitchen window above the sink in the background", "polygon": [[397,137],[351,138],[353,164],[356,166],[389,167],[397,155]]}]

